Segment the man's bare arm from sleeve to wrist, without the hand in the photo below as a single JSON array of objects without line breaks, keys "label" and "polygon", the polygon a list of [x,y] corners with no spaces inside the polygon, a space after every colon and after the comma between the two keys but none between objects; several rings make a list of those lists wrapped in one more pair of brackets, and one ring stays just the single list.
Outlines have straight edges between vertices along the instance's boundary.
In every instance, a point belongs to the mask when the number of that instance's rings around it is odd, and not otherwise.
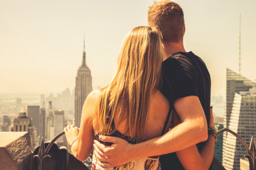
[{"label": "man's bare arm from sleeve to wrist, without the hand", "polygon": [[161,137],[133,146],[137,149],[134,156],[145,157],[176,152],[208,139],[207,121],[198,97],[177,99],[174,107],[181,123]]}]

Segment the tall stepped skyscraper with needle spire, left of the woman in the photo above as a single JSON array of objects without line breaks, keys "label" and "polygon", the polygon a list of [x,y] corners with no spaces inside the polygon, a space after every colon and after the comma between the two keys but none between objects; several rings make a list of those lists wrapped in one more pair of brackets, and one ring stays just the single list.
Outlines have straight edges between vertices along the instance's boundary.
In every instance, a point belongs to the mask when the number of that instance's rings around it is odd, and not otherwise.
[{"label": "tall stepped skyscraper with needle spire, left of the woman", "polygon": [[77,69],[76,87],[75,87],[75,126],[80,127],[81,113],[84,101],[92,91],[91,70],[86,65],[85,41],[83,46],[83,60],[81,66]]}]

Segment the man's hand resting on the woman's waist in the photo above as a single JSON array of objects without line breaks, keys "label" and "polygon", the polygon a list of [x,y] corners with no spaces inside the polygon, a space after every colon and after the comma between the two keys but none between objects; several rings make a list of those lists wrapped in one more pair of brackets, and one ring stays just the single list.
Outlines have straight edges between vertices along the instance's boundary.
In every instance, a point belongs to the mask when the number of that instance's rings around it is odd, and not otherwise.
[{"label": "man's hand resting on the woman's waist", "polygon": [[134,158],[132,144],[128,143],[124,139],[112,136],[99,136],[99,139],[104,142],[113,143],[111,146],[105,146],[94,140],[94,153],[99,162],[98,165],[103,167],[114,167],[123,165]]}]

